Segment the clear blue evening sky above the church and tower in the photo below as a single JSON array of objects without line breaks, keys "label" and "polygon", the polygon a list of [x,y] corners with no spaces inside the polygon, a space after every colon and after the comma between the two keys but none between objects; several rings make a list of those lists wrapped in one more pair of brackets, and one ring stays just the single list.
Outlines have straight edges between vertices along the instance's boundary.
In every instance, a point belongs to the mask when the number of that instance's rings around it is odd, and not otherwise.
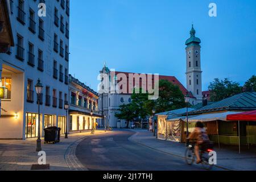
[{"label": "clear blue evening sky above the church and tower", "polygon": [[[209,3],[217,17],[208,15]],[[106,61],[116,71],[175,76],[185,86],[185,40],[201,39],[203,90],[214,78],[256,74],[256,1],[72,0],[69,73],[97,89]]]}]

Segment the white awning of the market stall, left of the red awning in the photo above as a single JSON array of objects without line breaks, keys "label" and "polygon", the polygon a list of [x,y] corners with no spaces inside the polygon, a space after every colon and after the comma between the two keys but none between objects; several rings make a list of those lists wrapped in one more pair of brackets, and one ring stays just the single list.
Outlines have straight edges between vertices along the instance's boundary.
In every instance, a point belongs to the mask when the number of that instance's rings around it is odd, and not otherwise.
[{"label": "white awning of the market stall, left of the red awning", "polygon": [[222,120],[226,121],[226,116],[229,114],[237,114],[241,112],[235,112],[235,111],[226,111],[223,113],[209,113],[209,114],[200,114],[195,117],[188,118],[188,122],[209,122],[209,121],[217,121]]}]

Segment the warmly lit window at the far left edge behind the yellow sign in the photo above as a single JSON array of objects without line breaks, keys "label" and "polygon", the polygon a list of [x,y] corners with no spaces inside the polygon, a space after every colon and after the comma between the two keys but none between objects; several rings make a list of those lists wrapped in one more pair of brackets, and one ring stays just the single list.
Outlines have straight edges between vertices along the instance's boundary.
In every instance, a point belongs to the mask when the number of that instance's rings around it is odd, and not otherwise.
[{"label": "warmly lit window at the far left edge behind the yellow sign", "polygon": [[11,99],[11,78],[2,77],[0,80],[0,96],[2,99]]}]

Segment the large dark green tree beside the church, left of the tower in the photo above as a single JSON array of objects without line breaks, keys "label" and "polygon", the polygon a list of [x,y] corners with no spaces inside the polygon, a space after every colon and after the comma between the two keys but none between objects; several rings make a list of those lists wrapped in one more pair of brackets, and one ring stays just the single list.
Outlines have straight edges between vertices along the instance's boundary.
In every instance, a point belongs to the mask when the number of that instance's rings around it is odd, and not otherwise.
[{"label": "large dark green tree beside the church, left of the tower", "polygon": [[159,80],[159,98],[155,101],[156,113],[185,107],[184,95],[179,86],[168,80]]}]

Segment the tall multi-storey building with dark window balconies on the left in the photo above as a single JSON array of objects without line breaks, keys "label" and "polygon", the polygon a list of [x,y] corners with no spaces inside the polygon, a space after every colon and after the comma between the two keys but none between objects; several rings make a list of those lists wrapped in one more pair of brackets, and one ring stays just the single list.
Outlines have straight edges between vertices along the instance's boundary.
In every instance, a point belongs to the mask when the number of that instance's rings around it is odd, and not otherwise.
[{"label": "tall multi-storey building with dark window balconies on the left", "polygon": [[[39,3],[46,5],[46,16],[39,16],[44,10]],[[8,54],[0,54],[0,86],[4,89],[0,138],[37,137],[39,117],[43,136],[45,127],[66,122],[69,1],[10,0],[10,22],[15,46]],[[40,115],[35,92],[38,78],[44,86],[39,97]]]}]

